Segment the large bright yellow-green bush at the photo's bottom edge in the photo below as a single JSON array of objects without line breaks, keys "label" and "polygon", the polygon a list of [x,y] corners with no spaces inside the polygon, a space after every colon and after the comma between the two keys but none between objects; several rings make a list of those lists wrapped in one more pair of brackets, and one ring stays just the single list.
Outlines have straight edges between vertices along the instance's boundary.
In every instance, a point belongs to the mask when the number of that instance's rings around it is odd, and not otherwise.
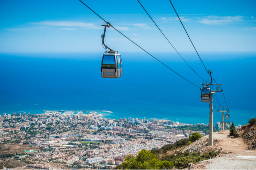
[{"label": "large bright yellow-green bush at the photo's bottom edge", "polygon": [[172,169],[172,161],[161,161],[157,159],[157,156],[151,151],[141,150],[138,156],[134,157],[132,155],[125,157],[125,162],[118,165],[116,169],[123,170],[153,170],[153,169]]}]

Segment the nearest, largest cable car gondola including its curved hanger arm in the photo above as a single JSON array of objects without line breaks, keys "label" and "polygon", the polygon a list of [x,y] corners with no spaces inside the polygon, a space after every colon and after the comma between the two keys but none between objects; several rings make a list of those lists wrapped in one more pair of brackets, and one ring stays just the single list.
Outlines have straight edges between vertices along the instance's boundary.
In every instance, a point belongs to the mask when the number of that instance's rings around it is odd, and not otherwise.
[{"label": "nearest, largest cable car gondola including its curved hanger arm", "polygon": [[105,26],[104,34],[102,35],[102,44],[105,46],[105,49],[109,49],[110,51],[106,51],[102,57],[101,64],[101,73],[103,78],[118,78],[122,75],[122,58],[118,51],[113,51],[107,45],[105,45],[104,38],[106,33],[106,28],[110,27],[110,24],[107,23]]}]

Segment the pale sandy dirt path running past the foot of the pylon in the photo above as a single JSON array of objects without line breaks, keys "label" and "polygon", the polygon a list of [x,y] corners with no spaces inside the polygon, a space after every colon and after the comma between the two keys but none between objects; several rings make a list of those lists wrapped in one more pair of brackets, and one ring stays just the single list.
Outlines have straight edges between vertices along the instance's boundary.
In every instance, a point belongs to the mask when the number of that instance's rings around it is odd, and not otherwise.
[{"label": "pale sandy dirt path running past the foot of the pylon", "polygon": [[221,154],[214,159],[193,165],[192,169],[256,169],[256,150],[247,150],[243,139],[229,138],[228,135],[229,131],[213,133],[213,139],[219,140],[217,147],[222,149]]}]

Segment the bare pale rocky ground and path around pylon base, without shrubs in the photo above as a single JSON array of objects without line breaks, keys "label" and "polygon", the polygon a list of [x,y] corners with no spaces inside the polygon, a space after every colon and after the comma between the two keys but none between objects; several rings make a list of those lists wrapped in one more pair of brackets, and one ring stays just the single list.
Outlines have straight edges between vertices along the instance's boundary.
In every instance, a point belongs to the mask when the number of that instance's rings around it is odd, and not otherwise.
[{"label": "bare pale rocky ground and path around pylon base, without shrubs", "polygon": [[229,131],[213,133],[213,146],[207,146],[208,137],[204,136],[198,141],[184,148],[182,152],[210,150],[220,151],[214,159],[200,161],[198,164],[189,164],[186,169],[256,169],[256,150],[248,150],[246,141],[242,138],[229,137]]}]

